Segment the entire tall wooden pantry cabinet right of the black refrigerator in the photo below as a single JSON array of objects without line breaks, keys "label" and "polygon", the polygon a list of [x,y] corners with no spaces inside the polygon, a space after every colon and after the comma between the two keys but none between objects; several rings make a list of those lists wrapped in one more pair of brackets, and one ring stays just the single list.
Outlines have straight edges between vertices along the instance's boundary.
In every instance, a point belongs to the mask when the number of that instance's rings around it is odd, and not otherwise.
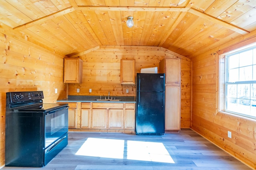
[{"label": "entire tall wooden pantry cabinet right of the black refrigerator", "polygon": [[165,73],[165,130],[180,130],[180,58],[165,58],[159,63]]}]

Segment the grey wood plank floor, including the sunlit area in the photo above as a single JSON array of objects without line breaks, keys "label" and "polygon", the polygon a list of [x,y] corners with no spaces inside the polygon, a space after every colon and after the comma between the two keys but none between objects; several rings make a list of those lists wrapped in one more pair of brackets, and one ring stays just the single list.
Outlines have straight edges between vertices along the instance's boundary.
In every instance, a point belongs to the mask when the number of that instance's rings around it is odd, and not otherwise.
[{"label": "grey wood plank floor, including the sunlit area", "polygon": [[69,132],[68,146],[42,168],[3,170],[250,170],[191,129],[163,136]]}]

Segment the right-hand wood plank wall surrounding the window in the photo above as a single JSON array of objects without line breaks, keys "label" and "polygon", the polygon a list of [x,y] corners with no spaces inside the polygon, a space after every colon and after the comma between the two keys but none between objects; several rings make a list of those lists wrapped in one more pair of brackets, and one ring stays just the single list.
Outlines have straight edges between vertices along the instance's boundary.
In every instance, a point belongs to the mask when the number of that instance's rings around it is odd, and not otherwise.
[{"label": "right-hand wood plank wall surrounding the window", "polygon": [[[204,55],[192,58],[192,126],[191,128],[256,169],[256,121],[218,111],[218,63],[224,52],[255,42],[256,32],[221,45]],[[241,43],[240,43],[241,41]],[[228,138],[232,132],[232,139]]]}]

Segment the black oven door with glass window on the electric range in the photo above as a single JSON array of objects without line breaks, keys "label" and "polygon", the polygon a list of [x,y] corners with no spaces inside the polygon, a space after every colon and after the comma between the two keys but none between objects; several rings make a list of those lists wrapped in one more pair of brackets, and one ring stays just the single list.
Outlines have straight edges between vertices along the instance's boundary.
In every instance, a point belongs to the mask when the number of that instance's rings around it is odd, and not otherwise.
[{"label": "black oven door with glass window on the electric range", "polygon": [[47,148],[68,132],[68,106],[46,112],[44,123]]}]

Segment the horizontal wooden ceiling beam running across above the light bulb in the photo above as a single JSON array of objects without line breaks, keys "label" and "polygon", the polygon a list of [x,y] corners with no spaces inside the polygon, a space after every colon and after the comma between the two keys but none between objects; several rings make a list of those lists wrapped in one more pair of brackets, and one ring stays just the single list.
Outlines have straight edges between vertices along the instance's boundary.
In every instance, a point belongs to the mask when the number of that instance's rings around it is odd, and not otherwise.
[{"label": "horizontal wooden ceiling beam running across above the light bulb", "polygon": [[78,10],[105,10],[105,11],[176,11],[187,12],[185,7],[155,7],[155,6],[78,6]]}]

